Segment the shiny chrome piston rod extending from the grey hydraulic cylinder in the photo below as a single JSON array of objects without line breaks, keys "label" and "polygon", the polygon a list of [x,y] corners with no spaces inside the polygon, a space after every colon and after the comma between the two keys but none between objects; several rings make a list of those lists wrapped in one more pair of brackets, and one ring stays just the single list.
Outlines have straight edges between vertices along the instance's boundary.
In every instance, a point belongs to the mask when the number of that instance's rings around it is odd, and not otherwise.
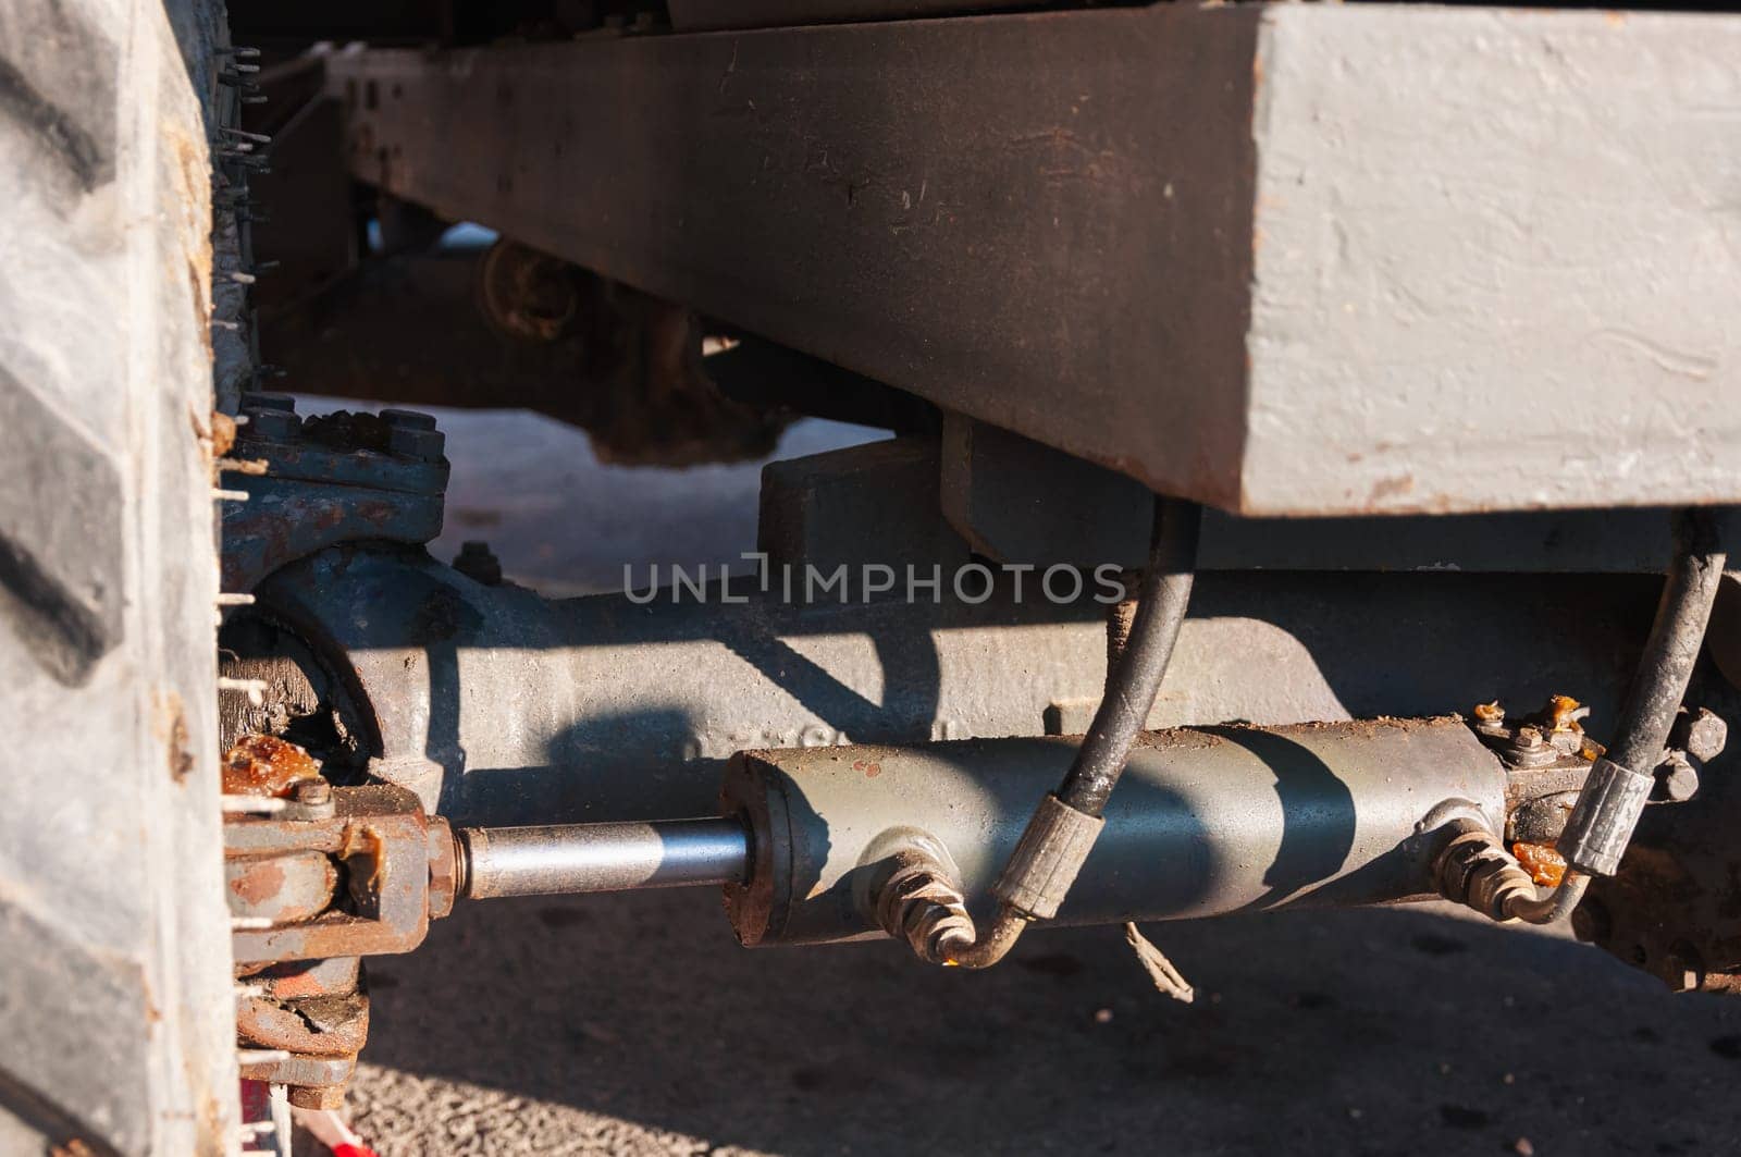
[{"label": "shiny chrome piston rod extending from the grey hydraulic cylinder", "polygon": [[461,894],[557,896],[738,883],[750,842],[735,819],[461,828]]}]

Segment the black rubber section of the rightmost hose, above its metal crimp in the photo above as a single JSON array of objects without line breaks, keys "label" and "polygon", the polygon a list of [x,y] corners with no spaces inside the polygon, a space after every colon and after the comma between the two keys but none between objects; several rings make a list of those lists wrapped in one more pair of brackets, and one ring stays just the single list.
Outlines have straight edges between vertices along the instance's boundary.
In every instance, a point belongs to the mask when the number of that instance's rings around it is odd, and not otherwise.
[{"label": "black rubber section of the rightmost hose, above its metal crimp", "polygon": [[1704,509],[1675,512],[1675,559],[1609,749],[1612,761],[1640,775],[1649,775],[1663,760],[1704,643],[1725,561],[1717,518]]}]

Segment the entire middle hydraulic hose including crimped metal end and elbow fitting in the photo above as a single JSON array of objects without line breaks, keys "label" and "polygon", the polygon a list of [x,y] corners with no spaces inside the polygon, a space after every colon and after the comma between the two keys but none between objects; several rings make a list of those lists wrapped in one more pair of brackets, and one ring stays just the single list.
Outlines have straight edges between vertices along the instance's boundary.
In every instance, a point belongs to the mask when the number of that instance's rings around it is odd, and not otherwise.
[{"label": "entire middle hydraulic hose including crimped metal end and elbow fitting", "polygon": [[971,943],[965,943],[966,930],[944,939],[947,964],[965,969],[998,964],[1031,920],[1055,917],[1069,894],[1100,835],[1106,802],[1125,772],[1130,746],[1161,690],[1191,601],[1201,524],[1203,509],[1194,502],[1156,497],[1137,615],[1116,666],[1107,671],[1093,723],[1059,789],[1041,800],[1010,854],[992,889],[999,903],[991,927]]}]

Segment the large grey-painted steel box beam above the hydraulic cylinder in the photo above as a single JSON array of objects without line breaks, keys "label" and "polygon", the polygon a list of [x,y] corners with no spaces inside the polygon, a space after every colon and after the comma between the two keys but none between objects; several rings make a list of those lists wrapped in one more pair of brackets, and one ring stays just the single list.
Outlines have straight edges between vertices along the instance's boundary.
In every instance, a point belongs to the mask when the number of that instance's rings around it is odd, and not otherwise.
[{"label": "large grey-painted steel box beam above the hydraulic cylinder", "polygon": [[1741,500],[1738,56],[1732,14],[1160,5],[345,52],[329,85],[399,197],[1309,516]]}]

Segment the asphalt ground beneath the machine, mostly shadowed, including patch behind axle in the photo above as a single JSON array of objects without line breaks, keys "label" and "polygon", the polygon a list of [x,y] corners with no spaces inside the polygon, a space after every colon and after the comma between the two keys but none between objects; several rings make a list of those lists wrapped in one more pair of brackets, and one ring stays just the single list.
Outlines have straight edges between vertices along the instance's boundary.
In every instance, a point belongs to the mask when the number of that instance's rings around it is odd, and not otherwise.
[{"label": "asphalt ground beneath the machine, mostly shadowed, including patch behind axle", "polygon": [[[442,415],[435,552],[548,592],[731,561],[757,467],[601,467],[524,413]],[[794,427],[783,455],[864,432]],[[461,906],[369,965],[355,1124],[383,1154],[1727,1154],[1741,1004],[1450,910],[1029,936],[982,974],[893,944],[738,948],[712,889]]]}]

